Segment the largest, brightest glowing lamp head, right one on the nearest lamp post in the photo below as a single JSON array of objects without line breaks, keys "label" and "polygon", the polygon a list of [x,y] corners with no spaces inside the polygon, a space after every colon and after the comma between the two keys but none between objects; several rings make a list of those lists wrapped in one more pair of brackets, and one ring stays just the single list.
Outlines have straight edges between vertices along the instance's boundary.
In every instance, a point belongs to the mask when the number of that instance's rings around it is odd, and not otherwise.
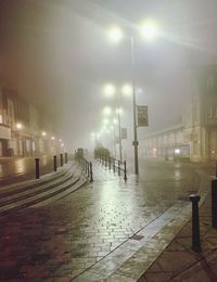
[{"label": "largest, brightest glowing lamp head, right one on the nearest lamp post", "polygon": [[140,29],[141,36],[148,41],[154,40],[158,35],[158,26],[153,20],[143,22]]}]

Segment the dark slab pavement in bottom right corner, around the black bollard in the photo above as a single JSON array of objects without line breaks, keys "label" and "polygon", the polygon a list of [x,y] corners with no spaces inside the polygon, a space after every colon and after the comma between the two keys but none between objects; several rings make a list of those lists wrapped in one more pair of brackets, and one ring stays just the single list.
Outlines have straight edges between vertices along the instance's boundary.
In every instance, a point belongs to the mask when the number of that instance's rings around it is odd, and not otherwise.
[{"label": "dark slab pavement in bottom right corner, around the black bollard", "polygon": [[212,228],[210,193],[200,208],[202,252],[192,251],[191,220],[178,233],[161,256],[138,280],[164,281],[217,281],[217,230]]}]

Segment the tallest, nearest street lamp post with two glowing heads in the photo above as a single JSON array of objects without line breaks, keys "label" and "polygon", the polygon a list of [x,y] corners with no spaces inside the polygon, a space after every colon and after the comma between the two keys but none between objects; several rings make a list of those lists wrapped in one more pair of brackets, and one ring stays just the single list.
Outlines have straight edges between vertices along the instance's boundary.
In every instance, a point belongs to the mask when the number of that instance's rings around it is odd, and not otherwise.
[{"label": "tallest, nearest street lamp post with two glowing heads", "polygon": [[[153,40],[158,34],[157,24],[148,20],[140,26],[140,31],[145,40]],[[112,27],[108,33],[110,38],[114,42],[118,42],[123,39],[124,33],[119,27]],[[125,36],[126,37],[126,36]],[[131,62],[131,79],[132,79],[132,114],[133,114],[133,141],[135,146],[135,174],[139,175],[139,162],[138,162],[138,136],[137,136],[137,99],[136,99],[136,78],[135,78],[135,35],[130,34],[127,37],[130,40],[130,62]]]}]

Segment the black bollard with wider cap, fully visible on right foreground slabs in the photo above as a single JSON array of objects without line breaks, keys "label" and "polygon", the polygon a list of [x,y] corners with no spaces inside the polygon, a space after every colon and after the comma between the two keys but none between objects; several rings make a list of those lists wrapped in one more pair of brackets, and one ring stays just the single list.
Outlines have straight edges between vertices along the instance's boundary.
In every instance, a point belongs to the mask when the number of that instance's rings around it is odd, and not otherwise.
[{"label": "black bollard with wider cap, fully visible on right foreground slabs", "polygon": [[199,201],[200,195],[190,195],[192,202],[192,249],[194,252],[201,252],[201,239],[200,239],[200,221],[199,221]]}]

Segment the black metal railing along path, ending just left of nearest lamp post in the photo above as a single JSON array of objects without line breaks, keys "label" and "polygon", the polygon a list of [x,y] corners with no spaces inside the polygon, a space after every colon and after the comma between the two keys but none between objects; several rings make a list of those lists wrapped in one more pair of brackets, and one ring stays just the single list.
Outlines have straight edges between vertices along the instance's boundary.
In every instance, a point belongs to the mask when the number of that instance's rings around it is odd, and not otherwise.
[{"label": "black metal railing along path, ending just left of nearest lamp post", "polygon": [[117,172],[118,176],[124,176],[125,182],[127,181],[127,162],[115,159],[114,157],[103,155],[103,154],[94,154],[94,159],[97,159],[100,164],[102,164],[108,170],[113,170],[113,172]]}]

